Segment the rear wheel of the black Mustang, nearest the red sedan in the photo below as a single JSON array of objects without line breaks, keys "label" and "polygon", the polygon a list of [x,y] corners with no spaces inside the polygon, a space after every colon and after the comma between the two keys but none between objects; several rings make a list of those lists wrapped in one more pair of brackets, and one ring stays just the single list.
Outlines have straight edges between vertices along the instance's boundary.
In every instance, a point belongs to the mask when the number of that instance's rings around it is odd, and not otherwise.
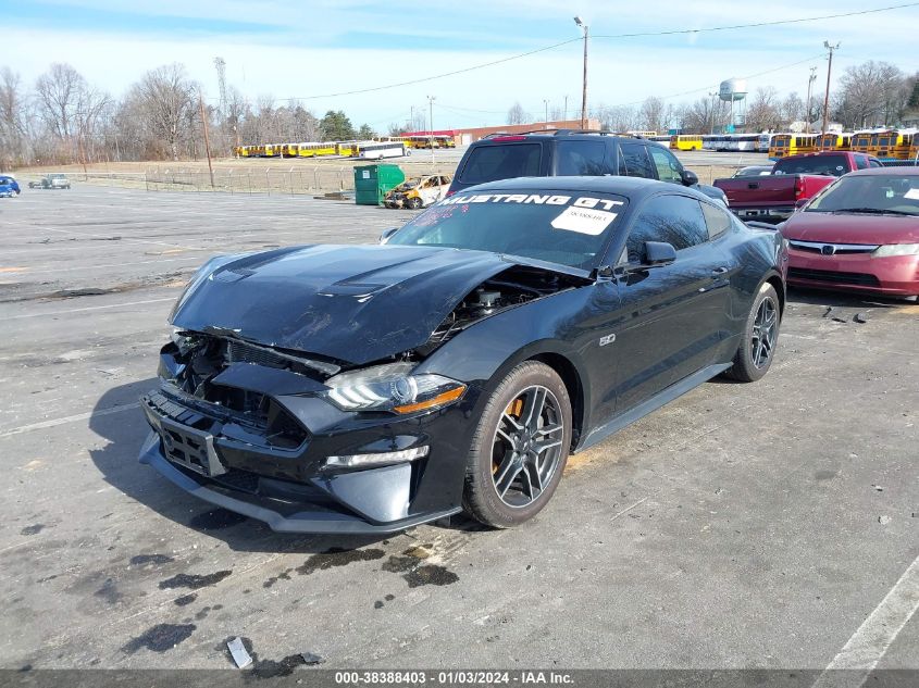
[{"label": "rear wheel of the black Mustang, nearest the red sedan", "polygon": [[741,383],[755,383],[766,375],[779,343],[781,321],[779,295],[772,285],[763,283],[753,300],[734,363],[724,376]]}]

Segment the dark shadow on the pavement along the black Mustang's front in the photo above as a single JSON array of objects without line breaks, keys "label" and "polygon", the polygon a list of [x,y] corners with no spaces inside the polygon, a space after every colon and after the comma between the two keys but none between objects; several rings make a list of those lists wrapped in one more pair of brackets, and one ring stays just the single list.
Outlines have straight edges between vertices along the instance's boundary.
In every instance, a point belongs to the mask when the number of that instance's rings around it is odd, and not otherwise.
[{"label": "dark shadow on the pavement along the black Mustang's front", "polygon": [[[315,553],[337,548],[352,550],[398,534],[330,536],[274,533],[265,524],[208,504],[170,483],[137,455],[150,426],[139,408],[107,411],[131,403],[157,387],[156,379],[134,381],[109,389],[97,401],[89,429],[108,442],[89,455],[104,479],[127,497],[157,514],[202,535],[224,540],[234,551]],[[151,527],[156,518],[151,514]]]}]

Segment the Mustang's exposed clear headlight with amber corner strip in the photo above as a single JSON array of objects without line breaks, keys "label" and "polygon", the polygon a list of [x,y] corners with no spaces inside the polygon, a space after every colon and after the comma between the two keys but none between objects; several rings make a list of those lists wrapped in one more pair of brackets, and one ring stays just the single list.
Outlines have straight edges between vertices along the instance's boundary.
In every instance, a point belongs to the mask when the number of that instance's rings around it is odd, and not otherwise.
[{"label": "Mustang's exposed clear headlight with amber corner strip", "polygon": [[343,411],[414,413],[460,399],[465,385],[442,375],[411,375],[412,363],[389,363],[339,373],[325,380],[322,397]]}]

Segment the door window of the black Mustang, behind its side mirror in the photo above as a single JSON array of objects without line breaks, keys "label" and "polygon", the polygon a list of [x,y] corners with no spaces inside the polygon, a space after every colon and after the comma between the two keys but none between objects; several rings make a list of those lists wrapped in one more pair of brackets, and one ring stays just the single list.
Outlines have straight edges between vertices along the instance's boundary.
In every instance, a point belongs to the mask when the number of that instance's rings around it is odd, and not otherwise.
[{"label": "door window of the black Mustang, behind its side mirror", "polygon": [[650,199],[632,223],[625,240],[630,263],[642,262],[645,241],[666,241],[678,251],[708,241],[708,226],[699,202],[685,196]]}]

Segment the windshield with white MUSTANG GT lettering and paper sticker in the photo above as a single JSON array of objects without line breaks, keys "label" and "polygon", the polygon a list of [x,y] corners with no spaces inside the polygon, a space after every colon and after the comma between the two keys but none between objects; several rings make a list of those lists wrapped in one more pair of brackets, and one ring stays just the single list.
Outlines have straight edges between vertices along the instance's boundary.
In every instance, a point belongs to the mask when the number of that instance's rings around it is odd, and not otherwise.
[{"label": "windshield with white MUSTANG GT lettering and paper sticker", "polygon": [[542,191],[454,196],[399,229],[389,243],[492,251],[591,270],[628,200]]}]

